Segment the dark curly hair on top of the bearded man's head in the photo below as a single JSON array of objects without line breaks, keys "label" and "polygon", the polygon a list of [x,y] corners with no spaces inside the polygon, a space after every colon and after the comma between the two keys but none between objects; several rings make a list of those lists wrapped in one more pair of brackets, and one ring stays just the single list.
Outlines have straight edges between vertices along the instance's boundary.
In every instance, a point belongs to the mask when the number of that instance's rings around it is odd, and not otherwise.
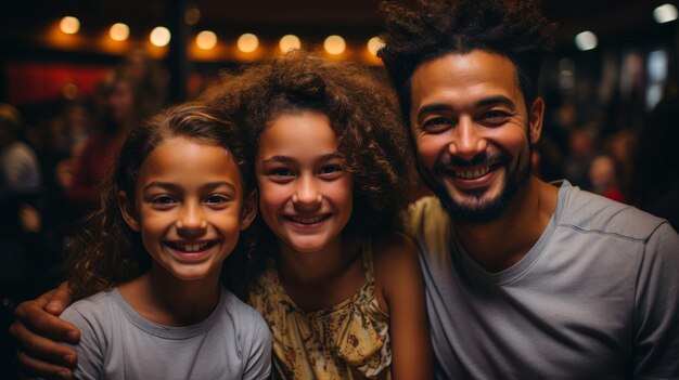
[{"label": "dark curly hair on top of the bearded man's head", "polygon": [[542,16],[539,0],[390,0],[381,8],[384,48],[377,55],[398,91],[406,118],[413,71],[449,53],[478,49],[504,55],[516,67],[526,106],[537,96],[540,66],[553,48],[554,29]]}]

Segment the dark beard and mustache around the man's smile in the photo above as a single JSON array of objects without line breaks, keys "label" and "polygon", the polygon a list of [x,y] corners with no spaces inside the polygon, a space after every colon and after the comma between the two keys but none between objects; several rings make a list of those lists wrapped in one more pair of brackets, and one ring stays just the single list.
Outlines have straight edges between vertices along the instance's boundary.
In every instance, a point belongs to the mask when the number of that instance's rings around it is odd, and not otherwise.
[{"label": "dark beard and mustache around the man's smile", "polygon": [[[494,155],[479,154],[471,161],[462,160],[457,157],[449,158],[447,160],[440,160],[434,166],[433,172],[430,172],[428,185],[434,194],[440,200],[441,206],[450,217],[450,219],[461,224],[488,224],[498,220],[507,210],[512,199],[516,196],[516,193],[530,178],[530,155],[533,154],[533,144],[528,145],[528,156],[518,157],[517,165],[522,165],[522,160],[525,161],[523,167],[517,167],[515,171],[511,170],[511,163],[513,157],[508,152],[501,152]],[[487,189],[478,191],[465,191],[467,197],[473,197],[475,201],[469,201],[469,199],[458,201],[452,198],[444,181],[441,180],[447,173],[445,168],[454,166],[457,168],[465,168],[476,166],[479,163],[500,162],[504,168],[504,179],[502,181],[502,189],[500,194],[494,199],[483,199]],[[495,170],[498,170],[496,168]]]}]

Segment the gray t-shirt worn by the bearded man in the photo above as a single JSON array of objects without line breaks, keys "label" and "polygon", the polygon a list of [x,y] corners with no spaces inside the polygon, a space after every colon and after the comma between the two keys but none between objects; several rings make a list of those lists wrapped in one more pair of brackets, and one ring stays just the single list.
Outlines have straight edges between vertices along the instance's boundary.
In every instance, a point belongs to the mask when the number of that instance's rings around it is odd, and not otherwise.
[{"label": "gray t-shirt worn by the bearded man", "polygon": [[679,235],[563,182],[515,265],[489,273],[438,199],[408,220],[420,247],[439,379],[679,378]]}]

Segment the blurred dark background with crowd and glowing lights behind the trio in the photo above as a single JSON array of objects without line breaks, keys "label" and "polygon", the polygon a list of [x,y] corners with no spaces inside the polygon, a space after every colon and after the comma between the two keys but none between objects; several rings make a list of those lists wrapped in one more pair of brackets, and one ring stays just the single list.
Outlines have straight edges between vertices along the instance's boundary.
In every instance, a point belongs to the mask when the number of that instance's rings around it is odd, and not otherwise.
[{"label": "blurred dark background with crowd and glowing lights behind the trio", "polygon": [[[65,241],[125,134],[217,78],[303,47],[370,66],[379,0],[30,1],[0,19],[0,333],[55,285]],[[543,1],[559,24],[534,153],[545,180],[635,205],[679,228],[677,8]],[[630,221],[633,223],[635,221]],[[2,350],[9,350],[2,344]],[[11,361],[12,352],[2,352]],[[10,369],[11,370],[11,369]]]}]

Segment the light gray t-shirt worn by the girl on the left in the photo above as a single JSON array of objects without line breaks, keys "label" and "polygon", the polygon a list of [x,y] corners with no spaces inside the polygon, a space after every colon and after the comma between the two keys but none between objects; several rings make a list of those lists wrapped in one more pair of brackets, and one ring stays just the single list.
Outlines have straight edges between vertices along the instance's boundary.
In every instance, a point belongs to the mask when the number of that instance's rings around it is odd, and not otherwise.
[{"label": "light gray t-shirt worn by the girl on the left", "polygon": [[215,311],[193,326],[151,323],[117,289],[74,303],[62,317],[80,329],[78,379],[265,379],[271,372],[267,324],[223,287]]}]

